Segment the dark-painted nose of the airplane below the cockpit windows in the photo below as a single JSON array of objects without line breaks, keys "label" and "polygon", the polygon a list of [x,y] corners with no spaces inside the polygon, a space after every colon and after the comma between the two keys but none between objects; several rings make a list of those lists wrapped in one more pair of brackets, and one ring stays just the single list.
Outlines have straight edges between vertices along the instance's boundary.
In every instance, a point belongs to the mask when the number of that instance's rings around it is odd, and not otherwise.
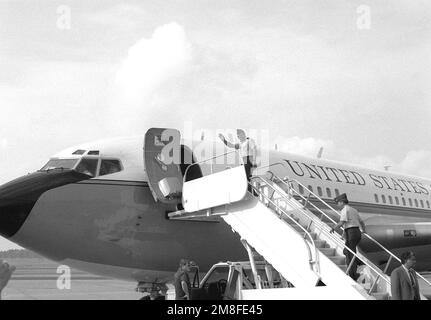
[{"label": "dark-painted nose of the airplane below the cockpit windows", "polygon": [[86,179],[88,175],[74,170],[55,169],[30,173],[0,186],[0,235],[15,235],[46,191]]}]

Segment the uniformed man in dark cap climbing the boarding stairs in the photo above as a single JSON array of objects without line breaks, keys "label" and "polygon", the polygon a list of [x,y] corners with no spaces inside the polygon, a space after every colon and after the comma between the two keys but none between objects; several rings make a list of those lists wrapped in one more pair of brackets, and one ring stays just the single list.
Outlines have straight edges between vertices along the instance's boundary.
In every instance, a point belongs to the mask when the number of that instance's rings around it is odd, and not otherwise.
[{"label": "uniformed man in dark cap climbing the boarding stairs", "polygon": [[[342,226],[344,228],[346,246],[356,253],[356,246],[359,244],[362,237],[361,229],[362,232],[365,232],[364,221],[362,221],[358,211],[349,206],[349,200],[345,193],[337,196],[334,201],[337,206],[341,208],[341,217],[340,222],[331,229],[331,233]],[[349,266],[354,256],[349,250],[345,250],[344,253],[346,255],[346,264]],[[355,281],[359,278],[359,275],[356,273],[357,266],[358,261],[356,258],[349,269],[349,276]]]}]

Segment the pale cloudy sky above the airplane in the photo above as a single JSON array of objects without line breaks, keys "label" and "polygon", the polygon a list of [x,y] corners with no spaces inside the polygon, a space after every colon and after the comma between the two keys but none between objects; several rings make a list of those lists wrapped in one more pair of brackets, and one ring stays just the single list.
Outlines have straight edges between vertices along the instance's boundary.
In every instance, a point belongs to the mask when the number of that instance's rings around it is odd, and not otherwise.
[{"label": "pale cloudy sky above the airplane", "polygon": [[0,0],[0,183],[184,122],[431,178],[430,15],[425,0]]}]

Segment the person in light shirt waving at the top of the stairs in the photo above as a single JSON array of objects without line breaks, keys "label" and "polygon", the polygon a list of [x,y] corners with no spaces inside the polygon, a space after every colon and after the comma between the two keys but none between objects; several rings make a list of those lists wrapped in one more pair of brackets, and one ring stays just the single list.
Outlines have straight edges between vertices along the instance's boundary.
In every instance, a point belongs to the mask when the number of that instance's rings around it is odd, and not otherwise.
[{"label": "person in light shirt waving at the top of the stairs", "polygon": [[[242,129],[236,130],[239,143],[231,143],[226,140],[224,135],[219,134],[219,138],[223,141],[223,143],[229,148],[235,148],[239,150],[242,160],[244,162],[245,174],[247,176],[247,180],[250,181],[251,177],[251,168],[254,166],[256,162],[256,143],[252,138],[246,136],[245,131]],[[250,186],[249,186],[249,191]]]}]

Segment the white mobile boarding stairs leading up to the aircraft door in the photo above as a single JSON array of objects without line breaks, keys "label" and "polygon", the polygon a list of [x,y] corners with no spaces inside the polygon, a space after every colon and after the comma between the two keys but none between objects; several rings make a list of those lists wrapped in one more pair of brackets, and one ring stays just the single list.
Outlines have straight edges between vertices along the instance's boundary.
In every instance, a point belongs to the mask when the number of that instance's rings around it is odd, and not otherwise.
[{"label": "white mobile boarding stairs leading up to the aircraft door", "polygon": [[[184,178],[186,175],[187,170]],[[223,219],[241,237],[252,265],[256,259],[263,259],[293,284],[294,288],[286,289],[290,291],[280,291],[280,297],[388,299],[390,279],[386,270],[380,270],[361,253],[352,252],[339,234],[330,233],[335,221],[317,207],[313,212],[309,210],[309,198],[301,195],[292,183],[273,173],[270,178],[255,176],[248,183],[243,166],[184,180],[184,210],[170,213],[169,218]],[[346,250],[354,257],[349,265],[343,253]],[[391,259],[398,259],[392,256]],[[363,264],[358,267],[357,282],[348,276],[355,260]],[[255,276],[258,284],[259,278]],[[257,285],[257,289],[261,290],[248,290],[243,297],[264,299],[265,290],[276,290],[262,285]]]}]

